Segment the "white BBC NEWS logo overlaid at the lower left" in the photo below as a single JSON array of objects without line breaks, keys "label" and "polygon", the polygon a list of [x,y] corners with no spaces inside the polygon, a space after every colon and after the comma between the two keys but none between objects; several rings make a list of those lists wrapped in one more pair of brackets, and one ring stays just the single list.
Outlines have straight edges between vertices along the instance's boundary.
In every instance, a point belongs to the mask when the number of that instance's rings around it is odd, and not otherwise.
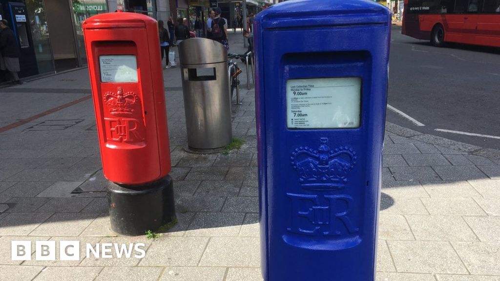
[{"label": "white BBC NEWS logo overlaid at the lower left", "polygon": [[[35,241],[35,260],[55,260],[59,251],[59,260],[79,260],[80,241]],[[12,260],[31,260],[31,241],[12,241]],[[87,258],[143,258],[146,255],[144,243],[85,243]]]}]

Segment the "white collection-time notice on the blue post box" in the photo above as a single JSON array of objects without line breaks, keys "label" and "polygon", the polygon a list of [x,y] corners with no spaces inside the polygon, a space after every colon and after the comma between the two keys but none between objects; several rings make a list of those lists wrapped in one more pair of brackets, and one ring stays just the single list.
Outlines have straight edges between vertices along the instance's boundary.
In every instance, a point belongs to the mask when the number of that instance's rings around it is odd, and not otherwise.
[{"label": "white collection-time notice on the blue post box", "polygon": [[355,128],[360,110],[360,77],[286,81],[288,128]]}]

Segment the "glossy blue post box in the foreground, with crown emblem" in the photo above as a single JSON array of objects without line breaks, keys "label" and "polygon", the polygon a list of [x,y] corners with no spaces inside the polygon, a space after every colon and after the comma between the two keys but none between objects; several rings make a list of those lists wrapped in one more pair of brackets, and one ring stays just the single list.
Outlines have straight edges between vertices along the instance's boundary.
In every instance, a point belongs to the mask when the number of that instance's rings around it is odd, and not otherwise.
[{"label": "glossy blue post box in the foreground, with crown emblem", "polygon": [[255,17],[264,280],[374,280],[389,42],[369,0]]}]

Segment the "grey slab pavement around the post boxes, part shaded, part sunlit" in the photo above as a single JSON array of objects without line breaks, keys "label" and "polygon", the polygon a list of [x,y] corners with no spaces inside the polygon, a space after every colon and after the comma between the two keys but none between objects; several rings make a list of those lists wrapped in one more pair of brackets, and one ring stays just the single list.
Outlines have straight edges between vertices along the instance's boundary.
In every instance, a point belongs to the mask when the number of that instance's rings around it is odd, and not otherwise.
[{"label": "grey slab pavement around the post boxes, part shaded, part sunlit", "polygon": [[[230,45],[244,51],[239,33]],[[1,88],[0,280],[261,280],[254,92],[240,77],[245,143],[202,155],[183,149],[180,70],[163,70],[178,222],[154,239],[109,229],[86,68]],[[499,281],[500,153],[387,123],[383,156],[377,280]],[[31,241],[31,260],[11,260],[12,240]],[[79,258],[35,260],[36,240],[79,241]],[[85,243],[144,243],[145,256],[86,257]]]}]

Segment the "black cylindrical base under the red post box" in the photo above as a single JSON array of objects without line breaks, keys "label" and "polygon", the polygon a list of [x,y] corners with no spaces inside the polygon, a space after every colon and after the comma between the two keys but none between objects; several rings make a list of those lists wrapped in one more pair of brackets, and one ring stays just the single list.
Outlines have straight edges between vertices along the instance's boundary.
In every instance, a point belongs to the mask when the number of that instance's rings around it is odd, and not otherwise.
[{"label": "black cylindrical base under the red post box", "polygon": [[144,235],[175,218],[172,178],[139,186],[107,187],[111,229],[127,236]]}]

